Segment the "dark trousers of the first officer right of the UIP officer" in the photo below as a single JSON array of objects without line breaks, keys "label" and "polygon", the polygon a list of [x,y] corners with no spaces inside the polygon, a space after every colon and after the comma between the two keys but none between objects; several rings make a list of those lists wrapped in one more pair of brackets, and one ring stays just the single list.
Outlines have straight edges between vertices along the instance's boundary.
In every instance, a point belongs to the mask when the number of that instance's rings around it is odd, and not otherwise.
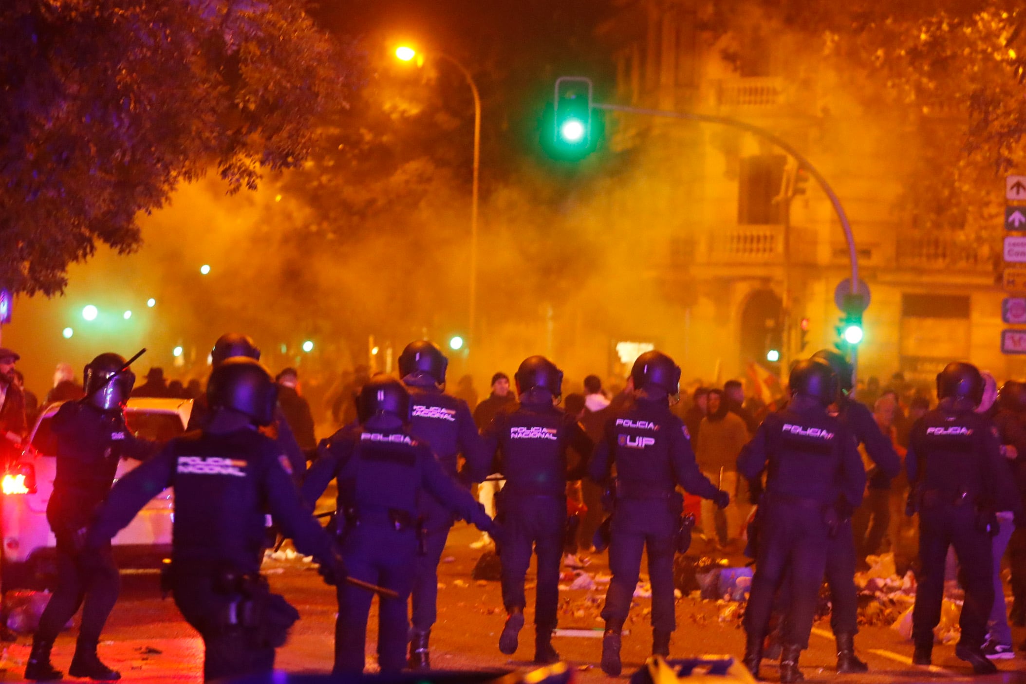
[{"label": "dark trousers of the first officer right of the UIP officer", "polygon": [[813,502],[768,499],[759,539],[752,591],[745,612],[749,639],[761,640],[770,626],[774,599],[785,577],[787,615],[784,640],[808,648],[816,618],[830,536],[822,507]]}]

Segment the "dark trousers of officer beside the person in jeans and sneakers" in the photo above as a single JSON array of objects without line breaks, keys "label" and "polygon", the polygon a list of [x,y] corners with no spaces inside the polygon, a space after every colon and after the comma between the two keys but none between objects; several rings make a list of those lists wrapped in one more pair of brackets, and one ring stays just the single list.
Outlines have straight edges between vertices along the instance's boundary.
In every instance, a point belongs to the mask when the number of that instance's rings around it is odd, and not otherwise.
[{"label": "dark trousers of officer beside the person in jeans and sneakers", "polygon": [[965,590],[958,625],[960,644],[979,648],[987,634],[994,603],[993,557],[990,534],[977,527],[973,506],[938,505],[919,511],[919,576],[912,610],[912,639],[933,644],[944,601],[944,561],[954,547]]}]

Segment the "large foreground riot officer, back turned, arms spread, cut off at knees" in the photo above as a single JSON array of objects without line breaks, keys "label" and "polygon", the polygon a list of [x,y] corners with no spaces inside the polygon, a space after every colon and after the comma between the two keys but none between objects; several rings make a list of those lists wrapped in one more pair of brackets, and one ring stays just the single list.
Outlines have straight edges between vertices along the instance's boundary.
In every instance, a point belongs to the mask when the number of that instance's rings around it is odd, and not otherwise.
[{"label": "large foreground riot officer, back turned, arms spread, cut off at knees", "polygon": [[274,417],[277,385],[256,361],[235,357],[207,384],[212,414],[202,432],[175,438],[111,491],[86,538],[109,544],[154,495],[174,487],[170,571],[182,615],[203,638],[204,680],[270,673],[299,613],[260,575],[265,508],[314,556],[329,582],[346,577],[330,535],[310,515],[287,457],[259,427]]}]

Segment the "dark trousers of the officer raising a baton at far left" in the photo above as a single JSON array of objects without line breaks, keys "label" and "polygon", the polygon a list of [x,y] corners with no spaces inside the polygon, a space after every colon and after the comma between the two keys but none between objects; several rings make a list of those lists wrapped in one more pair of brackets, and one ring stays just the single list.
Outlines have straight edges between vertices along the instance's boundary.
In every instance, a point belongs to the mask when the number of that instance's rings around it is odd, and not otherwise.
[{"label": "dark trousers of the officer raising a baton at far left", "polygon": [[86,556],[77,553],[71,539],[62,535],[57,537],[56,552],[57,586],[39,618],[36,636],[44,641],[53,641],[82,607],[79,640],[97,642],[118,600],[121,586],[111,545],[108,542],[98,550],[90,550]]}]

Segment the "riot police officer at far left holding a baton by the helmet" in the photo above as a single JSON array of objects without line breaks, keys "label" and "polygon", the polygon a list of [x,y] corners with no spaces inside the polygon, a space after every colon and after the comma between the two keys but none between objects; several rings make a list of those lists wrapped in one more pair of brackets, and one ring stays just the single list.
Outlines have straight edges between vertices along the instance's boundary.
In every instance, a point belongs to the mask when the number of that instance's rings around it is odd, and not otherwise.
[{"label": "riot police officer at far left holding a baton by the helmet", "polygon": [[53,640],[84,604],[73,677],[118,679],[96,656],[104,623],[118,598],[119,576],[110,540],[82,553],[85,528],[111,489],[121,458],[148,458],[155,442],[136,438],[125,425],[124,405],[135,374],[117,354],[101,354],[85,367],[85,397],[69,401],[53,416],[56,477],[46,519],[56,537],[57,585],[39,618],[25,678],[60,679],[50,665]]}]

